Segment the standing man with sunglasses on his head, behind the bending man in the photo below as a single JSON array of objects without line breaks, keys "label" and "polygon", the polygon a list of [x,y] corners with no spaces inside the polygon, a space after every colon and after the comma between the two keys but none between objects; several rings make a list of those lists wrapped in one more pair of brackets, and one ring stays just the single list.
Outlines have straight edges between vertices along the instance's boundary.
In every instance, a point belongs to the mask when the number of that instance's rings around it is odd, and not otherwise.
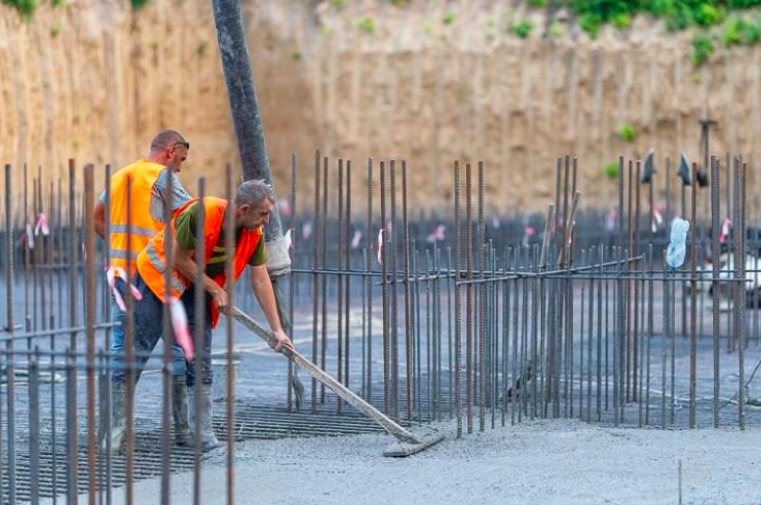
[{"label": "standing man with sunglasses on his head, behind the bending man", "polygon": [[[151,152],[147,158],[141,158],[116,171],[111,176],[110,265],[107,279],[111,297],[111,318],[114,324],[111,340],[113,356],[112,405],[113,417],[110,436],[112,450],[119,450],[126,430],[123,348],[124,348],[124,297],[127,295],[127,273],[132,277],[137,271],[135,262],[140,251],[148,241],[164,228],[165,200],[171,191],[170,203],[173,209],[183,206],[190,195],[183,189],[178,177],[170,177],[170,171],[177,173],[186,160],[190,145],[180,133],[167,129],[158,133],[151,141]],[[127,194],[127,181],[132,181],[132,191]],[[169,181],[171,180],[171,187]],[[130,198],[131,212],[127,214],[127,198]],[[148,210],[148,212],[146,212]],[[101,238],[106,239],[106,193],[100,194],[94,209],[94,227]],[[127,224],[132,226],[132,235],[127,239]],[[127,249],[130,261],[127,264]],[[175,440],[180,445],[189,445],[190,434],[187,425],[187,398],[185,394],[185,360],[176,344],[173,347],[173,388],[174,388],[174,427]],[[106,402],[101,402],[100,433],[105,434]],[[104,444],[105,445],[105,444]]]}]

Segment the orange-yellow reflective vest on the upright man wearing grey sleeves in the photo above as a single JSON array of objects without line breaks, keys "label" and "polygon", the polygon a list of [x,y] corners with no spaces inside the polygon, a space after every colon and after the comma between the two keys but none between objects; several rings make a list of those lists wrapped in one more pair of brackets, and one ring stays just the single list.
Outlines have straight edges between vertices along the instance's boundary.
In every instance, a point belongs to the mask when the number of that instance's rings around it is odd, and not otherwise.
[{"label": "orange-yellow reflective vest on the upright man wearing grey sleeves", "polygon": [[[111,176],[110,198],[110,267],[120,267],[129,271],[130,277],[135,273],[135,260],[148,241],[164,224],[151,217],[151,188],[158,179],[164,165],[154,161],[140,159],[127,165]],[[130,216],[127,215],[127,180],[132,179],[132,202]],[[132,233],[127,237],[127,222],[131,219]],[[127,250],[131,253],[127,264]],[[129,270],[128,270],[129,267]]]}]

